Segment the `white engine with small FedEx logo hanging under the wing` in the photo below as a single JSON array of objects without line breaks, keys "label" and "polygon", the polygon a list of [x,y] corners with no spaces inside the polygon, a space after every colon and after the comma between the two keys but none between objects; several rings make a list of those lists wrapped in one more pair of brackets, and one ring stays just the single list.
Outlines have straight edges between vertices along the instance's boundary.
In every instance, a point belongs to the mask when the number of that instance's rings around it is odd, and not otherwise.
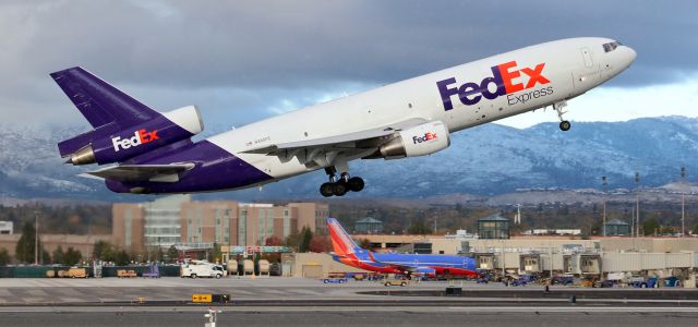
[{"label": "white engine with small FedEx logo hanging under the wing", "polygon": [[448,129],[441,121],[432,121],[399,131],[397,137],[381,146],[385,159],[419,157],[437,153],[450,145]]}]

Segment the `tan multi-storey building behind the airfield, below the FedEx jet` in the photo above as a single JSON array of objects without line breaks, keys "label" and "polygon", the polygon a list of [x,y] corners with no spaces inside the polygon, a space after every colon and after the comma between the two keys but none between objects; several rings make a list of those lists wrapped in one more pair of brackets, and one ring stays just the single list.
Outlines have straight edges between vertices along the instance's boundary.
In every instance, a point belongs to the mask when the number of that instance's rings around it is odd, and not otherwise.
[{"label": "tan multi-storey building behind the airfield, below the FedEx jet", "polygon": [[318,203],[276,206],[196,202],[191,195],[173,195],[149,203],[115,204],[112,241],[134,250],[171,245],[200,249],[213,243],[258,246],[272,237],[284,240],[303,227],[326,234],[328,216],[328,206]]}]

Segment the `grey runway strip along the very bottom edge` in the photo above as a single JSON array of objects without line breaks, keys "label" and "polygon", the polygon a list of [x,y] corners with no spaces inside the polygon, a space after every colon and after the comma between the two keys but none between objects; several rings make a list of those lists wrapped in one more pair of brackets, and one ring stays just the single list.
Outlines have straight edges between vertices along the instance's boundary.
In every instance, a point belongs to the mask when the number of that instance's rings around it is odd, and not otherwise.
[{"label": "grey runway strip along the very bottom edge", "polygon": [[[217,326],[697,326],[695,312],[567,307],[222,308]],[[205,310],[2,312],[0,326],[203,326]]]}]

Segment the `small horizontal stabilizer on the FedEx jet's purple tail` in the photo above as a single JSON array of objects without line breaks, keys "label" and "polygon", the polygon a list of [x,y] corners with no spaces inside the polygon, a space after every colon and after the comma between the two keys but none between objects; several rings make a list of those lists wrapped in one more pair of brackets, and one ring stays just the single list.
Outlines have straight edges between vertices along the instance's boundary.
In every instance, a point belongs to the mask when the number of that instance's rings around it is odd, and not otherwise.
[{"label": "small horizontal stabilizer on the FedEx jet's purple tail", "polygon": [[86,174],[120,182],[169,182],[179,181],[179,174],[194,168],[194,164],[174,165],[120,165],[88,171]]}]

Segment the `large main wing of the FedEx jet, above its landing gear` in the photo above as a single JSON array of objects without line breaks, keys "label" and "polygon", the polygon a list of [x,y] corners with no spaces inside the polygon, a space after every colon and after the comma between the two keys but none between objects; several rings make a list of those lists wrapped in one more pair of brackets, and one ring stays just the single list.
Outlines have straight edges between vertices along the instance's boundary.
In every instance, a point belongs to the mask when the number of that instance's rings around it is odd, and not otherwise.
[{"label": "large main wing of the FedEx jet, above its landing gear", "polygon": [[[359,131],[353,133],[304,140],[298,142],[279,143],[243,150],[245,154],[263,154],[269,156],[286,156],[298,150],[332,152],[332,150],[365,150],[376,148],[387,142],[396,131],[409,129],[428,122],[423,118],[411,118],[393,124]],[[292,156],[291,156],[292,157]]]}]

